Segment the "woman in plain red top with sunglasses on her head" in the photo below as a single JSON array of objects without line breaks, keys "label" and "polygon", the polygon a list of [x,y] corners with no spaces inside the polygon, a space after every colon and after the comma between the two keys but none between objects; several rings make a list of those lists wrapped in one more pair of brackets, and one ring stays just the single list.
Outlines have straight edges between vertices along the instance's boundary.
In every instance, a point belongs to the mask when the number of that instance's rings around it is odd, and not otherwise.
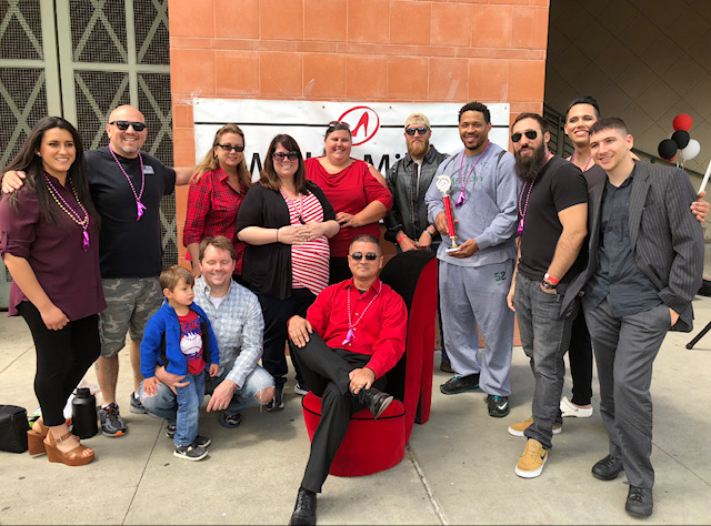
[{"label": "woman in plain red top with sunglasses on her head", "polygon": [[307,179],[317,183],[336,210],[341,231],[331,239],[329,283],[348,280],[348,247],[360,234],[380,239],[379,221],[392,208],[384,178],[371,164],[351,158],[353,139],[344,122],[326,130],[324,155],[307,159]]}]

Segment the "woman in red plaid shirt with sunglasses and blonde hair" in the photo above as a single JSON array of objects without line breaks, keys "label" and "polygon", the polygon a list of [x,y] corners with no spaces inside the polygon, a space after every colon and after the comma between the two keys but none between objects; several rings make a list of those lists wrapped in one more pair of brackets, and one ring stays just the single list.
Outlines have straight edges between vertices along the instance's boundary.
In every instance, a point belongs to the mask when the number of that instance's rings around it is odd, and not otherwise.
[{"label": "woman in red plaid shirt with sunglasses and blonde hair", "polygon": [[246,244],[237,236],[237,214],[252,180],[244,161],[244,133],[237,124],[226,124],[214,134],[212,148],[200,164],[188,192],[188,216],[182,242],[188,249],[192,274],[199,277],[200,242],[224,235],[234,245],[234,274],[242,275]]}]

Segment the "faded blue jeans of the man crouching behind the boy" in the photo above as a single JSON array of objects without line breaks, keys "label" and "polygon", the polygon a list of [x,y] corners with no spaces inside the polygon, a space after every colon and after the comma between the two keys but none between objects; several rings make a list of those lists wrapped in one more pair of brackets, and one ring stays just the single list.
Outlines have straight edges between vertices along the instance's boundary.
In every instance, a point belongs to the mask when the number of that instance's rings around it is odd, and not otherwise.
[{"label": "faded blue jeans of the man crouching behind the boy", "polygon": [[[227,364],[227,366],[223,367],[223,371],[231,370],[231,364]],[[207,378],[206,392],[208,394],[212,394],[214,388],[222,382],[222,380],[224,380],[226,376],[227,373],[223,373],[221,376]],[[266,387],[273,386],[274,381],[271,375],[259,365],[256,366],[254,370],[247,375],[247,380],[244,381],[242,388],[234,391],[227,412],[229,414],[236,414],[246,407],[259,405],[260,402],[254,397],[254,395]],[[156,396],[146,396],[143,393],[143,383],[141,382],[139,395],[141,397],[141,404],[143,404],[143,407],[146,407],[150,413],[160,418],[166,418],[169,424],[173,424],[176,422],[178,401],[176,398],[176,394],[166,384],[160,384],[158,386],[158,394]]]}]

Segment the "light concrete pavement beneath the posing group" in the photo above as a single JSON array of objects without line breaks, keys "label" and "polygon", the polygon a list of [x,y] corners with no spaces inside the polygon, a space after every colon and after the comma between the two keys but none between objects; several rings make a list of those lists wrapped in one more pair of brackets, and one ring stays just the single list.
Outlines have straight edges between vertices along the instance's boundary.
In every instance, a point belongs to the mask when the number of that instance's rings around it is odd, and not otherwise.
[{"label": "light concrete pavement beneath the posing group", "polygon": [[[709,524],[711,512],[711,334],[684,347],[711,321],[711,297],[694,302],[692,334],[670,333],[655,361],[654,514],[647,524]],[[119,404],[129,433],[84,441],[97,452],[86,467],[50,464],[47,456],[0,452],[0,524],[288,524],[309,453],[293,376],[286,408],[243,413],[226,429],[201,415],[212,438],[197,463],[172,455],[158,418],[129,412],[128,352],[120,355]],[[513,468],[524,438],[507,427],[530,415],[533,378],[522,350],[513,350],[512,411],[491,418],[485,395],[444,396],[435,354],[432,415],[417,425],[405,458],[368,477],[329,477],[318,500],[319,524],[637,524],[624,512],[624,476],[600,482],[590,468],[607,455],[598,413],[565,418],[539,478]],[[0,318],[0,403],[38,406],[32,390],[34,348],[21,318]],[[91,370],[87,380],[96,384]],[[570,396],[570,377],[564,394]]]}]

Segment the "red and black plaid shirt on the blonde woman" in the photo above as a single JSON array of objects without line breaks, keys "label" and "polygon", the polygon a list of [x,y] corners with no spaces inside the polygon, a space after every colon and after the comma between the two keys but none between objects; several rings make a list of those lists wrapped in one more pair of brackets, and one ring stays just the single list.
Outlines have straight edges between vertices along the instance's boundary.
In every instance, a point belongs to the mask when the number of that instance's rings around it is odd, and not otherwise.
[{"label": "red and black plaid shirt on the blonde woman", "polygon": [[234,245],[234,272],[241,275],[247,245],[237,237],[237,212],[240,210],[246,190],[236,192],[228,184],[228,178],[229,175],[219,168],[202,174],[200,181],[190,185],[182,243],[188,246],[190,243],[200,243],[209,235],[224,235]]}]

